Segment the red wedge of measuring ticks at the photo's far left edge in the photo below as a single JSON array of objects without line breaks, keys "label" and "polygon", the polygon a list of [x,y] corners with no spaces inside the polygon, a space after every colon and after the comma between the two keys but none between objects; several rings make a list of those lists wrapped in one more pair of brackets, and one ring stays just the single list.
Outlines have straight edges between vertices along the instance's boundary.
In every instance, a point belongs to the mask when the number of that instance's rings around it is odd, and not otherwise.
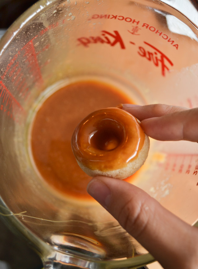
[{"label": "red wedge of measuring ticks at the photo's far left edge", "polygon": [[[3,84],[2,80],[0,81],[0,98],[3,98],[2,104],[8,106],[11,108],[12,105],[17,105],[19,109],[23,109],[23,107],[19,104],[19,102],[15,99],[15,97],[9,92],[9,90],[6,88],[6,86]],[[2,107],[2,105],[1,105]],[[4,111],[6,111],[4,109]]]}]

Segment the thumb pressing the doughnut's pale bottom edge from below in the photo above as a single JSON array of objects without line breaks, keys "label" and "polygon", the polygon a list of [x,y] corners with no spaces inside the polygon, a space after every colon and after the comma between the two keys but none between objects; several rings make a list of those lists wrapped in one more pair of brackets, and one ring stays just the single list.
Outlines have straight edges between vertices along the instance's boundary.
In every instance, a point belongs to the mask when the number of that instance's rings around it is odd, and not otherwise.
[{"label": "thumb pressing the doughnut's pale bottom edge from below", "polygon": [[196,268],[198,230],[140,188],[109,177],[93,178],[93,196],[164,268]]}]

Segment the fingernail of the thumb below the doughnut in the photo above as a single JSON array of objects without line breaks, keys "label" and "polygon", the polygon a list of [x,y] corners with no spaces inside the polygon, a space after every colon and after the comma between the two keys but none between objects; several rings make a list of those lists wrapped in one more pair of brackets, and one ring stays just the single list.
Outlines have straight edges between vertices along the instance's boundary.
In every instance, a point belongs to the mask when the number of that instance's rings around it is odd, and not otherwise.
[{"label": "fingernail of the thumb below the doughnut", "polygon": [[98,179],[93,179],[87,186],[87,192],[103,207],[108,207],[111,198],[111,191],[105,183]]}]

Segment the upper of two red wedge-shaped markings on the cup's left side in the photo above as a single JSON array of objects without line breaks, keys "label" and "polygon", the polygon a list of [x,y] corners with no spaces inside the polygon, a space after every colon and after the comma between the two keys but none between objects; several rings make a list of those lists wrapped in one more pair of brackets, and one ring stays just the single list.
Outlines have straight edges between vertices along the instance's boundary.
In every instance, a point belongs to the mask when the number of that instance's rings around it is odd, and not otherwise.
[{"label": "upper of two red wedge-shaped markings on the cup's left side", "polygon": [[26,58],[25,62],[29,63],[28,67],[30,68],[32,75],[34,76],[35,81],[39,80],[39,82],[42,83],[43,78],[41,75],[40,66],[37,61],[37,54],[33,45],[33,40],[35,38],[36,37],[29,41],[21,50],[25,50],[23,57]]}]

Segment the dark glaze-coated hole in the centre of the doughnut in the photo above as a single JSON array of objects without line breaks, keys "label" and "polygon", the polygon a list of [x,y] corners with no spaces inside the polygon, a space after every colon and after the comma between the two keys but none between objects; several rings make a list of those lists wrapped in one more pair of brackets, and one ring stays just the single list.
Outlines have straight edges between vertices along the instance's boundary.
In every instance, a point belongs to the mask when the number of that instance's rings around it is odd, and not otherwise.
[{"label": "dark glaze-coated hole in the centre of the doughnut", "polygon": [[97,123],[97,130],[90,135],[90,146],[94,149],[111,151],[124,140],[124,127],[112,119],[103,119]]}]

